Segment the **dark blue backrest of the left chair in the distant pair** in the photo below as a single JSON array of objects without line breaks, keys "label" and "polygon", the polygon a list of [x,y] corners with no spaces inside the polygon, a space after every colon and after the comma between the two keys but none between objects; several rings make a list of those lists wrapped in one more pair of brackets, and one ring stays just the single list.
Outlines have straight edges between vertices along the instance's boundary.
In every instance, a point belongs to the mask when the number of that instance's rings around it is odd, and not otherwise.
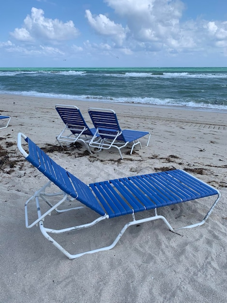
[{"label": "dark blue backrest of the left chair in the distant pair", "polygon": [[78,134],[85,128],[83,135],[93,136],[77,106],[56,105],[55,108],[62,121],[71,130],[72,134]]}]

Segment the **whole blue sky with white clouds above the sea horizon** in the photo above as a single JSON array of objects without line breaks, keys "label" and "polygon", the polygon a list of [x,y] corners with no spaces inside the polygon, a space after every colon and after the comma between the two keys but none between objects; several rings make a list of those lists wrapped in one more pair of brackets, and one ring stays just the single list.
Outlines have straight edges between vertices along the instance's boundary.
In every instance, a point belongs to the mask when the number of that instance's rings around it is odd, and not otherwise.
[{"label": "whole blue sky with white clouds above the sea horizon", "polygon": [[0,67],[227,66],[227,0],[6,0]]}]

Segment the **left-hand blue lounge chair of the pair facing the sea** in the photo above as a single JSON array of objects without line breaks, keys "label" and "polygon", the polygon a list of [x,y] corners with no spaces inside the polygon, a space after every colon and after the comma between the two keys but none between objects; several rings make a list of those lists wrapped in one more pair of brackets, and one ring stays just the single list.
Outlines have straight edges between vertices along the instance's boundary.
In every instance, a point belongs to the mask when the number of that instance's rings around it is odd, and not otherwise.
[{"label": "left-hand blue lounge chair of the pair facing the sea", "polygon": [[56,105],[55,108],[62,121],[65,123],[65,127],[60,135],[56,136],[57,142],[63,147],[62,142],[67,142],[69,144],[81,141],[85,144],[88,152],[91,153],[88,143],[95,135],[96,129],[89,128],[77,106]]}]

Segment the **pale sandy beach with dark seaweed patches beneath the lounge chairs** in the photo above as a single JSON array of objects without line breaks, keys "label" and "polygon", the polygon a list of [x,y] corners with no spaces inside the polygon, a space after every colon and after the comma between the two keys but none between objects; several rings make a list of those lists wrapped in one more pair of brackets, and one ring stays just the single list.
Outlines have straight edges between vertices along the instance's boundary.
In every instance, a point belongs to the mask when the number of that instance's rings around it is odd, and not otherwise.
[{"label": "pale sandy beach with dark seaweed patches beneath the lounge chairs", "polygon": [[[116,149],[92,155],[84,146],[63,150],[56,140],[64,127],[56,104],[78,106],[90,126],[89,107],[114,109],[123,129],[149,131],[150,144],[132,155],[124,149],[123,160]],[[0,95],[0,114],[11,116],[0,130],[0,302],[227,302],[227,113]],[[158,220],[143,223],[129,227],[112,250],[70,260],[39,227],[25,227],[24,204],[47,179],[18,151],[18,132],[87,184],[179,168],[217,188],[221,199],[201,227],[175,234]],[[174,227],[202,220],[208,211],[200,201],[181,204],[160,210]],[[96,234],[86,229],[79,243],[112,242],[124,220],[105,220]],[[72,243],[75,235],[62,237]]]}]

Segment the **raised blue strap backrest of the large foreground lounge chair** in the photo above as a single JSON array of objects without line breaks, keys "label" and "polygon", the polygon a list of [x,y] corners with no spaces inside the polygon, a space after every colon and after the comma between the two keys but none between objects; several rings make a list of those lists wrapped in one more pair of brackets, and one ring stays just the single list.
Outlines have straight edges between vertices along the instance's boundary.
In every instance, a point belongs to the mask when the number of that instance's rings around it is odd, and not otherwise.
[{"label": "raised blue strap backrest of the large foreground lounge chair", "polygon": [[[44,176],[71,197],[76,198],[78,201],[85,204],[95,212],[98,212],[100,215],[105,214],[88,185],[58,165],[28,137],[25,138],[25,141],[28,142],[29,151],[26,159],[34,167],[38,168]],[[19,150],[21,151],[21,148],[19,148]]]}]

